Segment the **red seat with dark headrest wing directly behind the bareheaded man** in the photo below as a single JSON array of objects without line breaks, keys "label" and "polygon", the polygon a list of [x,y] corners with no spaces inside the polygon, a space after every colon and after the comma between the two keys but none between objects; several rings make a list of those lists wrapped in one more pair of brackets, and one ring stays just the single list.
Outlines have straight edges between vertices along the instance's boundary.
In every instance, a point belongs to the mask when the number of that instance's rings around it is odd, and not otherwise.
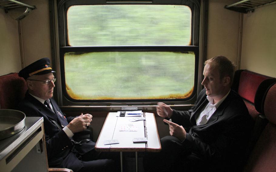
[{"label": "red seat with dark headrest wing directly behind the bareheaded man", "polygon": [[275,82],[276,78],[251,71],[237,70],[235,72],[232,89],[237,91],[243,98],[249,114],[255,121],[251,131],[250,142],[247,146],[247,157],[251,154],[260,134],[268,123],[261,109],[268,88]]}]

